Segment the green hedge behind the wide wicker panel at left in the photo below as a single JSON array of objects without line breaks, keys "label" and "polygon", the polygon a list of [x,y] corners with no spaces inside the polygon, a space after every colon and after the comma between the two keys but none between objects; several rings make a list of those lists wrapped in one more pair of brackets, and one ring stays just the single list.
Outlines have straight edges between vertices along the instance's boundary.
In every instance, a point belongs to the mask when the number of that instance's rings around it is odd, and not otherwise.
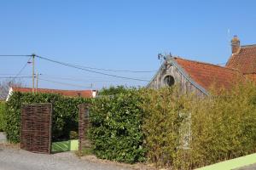
[{"label": "green hedge behind the wide wicker panel at left", "polygon": [[21,94],[14,93],[7,102],[5,131],[10,142],[20,142],[20,110],[22,104],[51,103],[52,139],[69,139],[71,131],[78,132],[78,105],[90,102],[90,99],[68,98],[59,94]]}]

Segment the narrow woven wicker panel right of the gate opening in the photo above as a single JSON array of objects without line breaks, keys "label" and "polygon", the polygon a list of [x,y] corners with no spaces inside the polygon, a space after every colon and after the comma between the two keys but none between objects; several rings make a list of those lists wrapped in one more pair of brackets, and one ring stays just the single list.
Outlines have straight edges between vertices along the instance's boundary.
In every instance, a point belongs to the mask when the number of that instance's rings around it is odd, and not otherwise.
[{"label": "narrow woven wicker panel right of the gate opening", "polygon": [[87,129],[89,127],[89,105],[79,105],[79,150],[90,148]]}]

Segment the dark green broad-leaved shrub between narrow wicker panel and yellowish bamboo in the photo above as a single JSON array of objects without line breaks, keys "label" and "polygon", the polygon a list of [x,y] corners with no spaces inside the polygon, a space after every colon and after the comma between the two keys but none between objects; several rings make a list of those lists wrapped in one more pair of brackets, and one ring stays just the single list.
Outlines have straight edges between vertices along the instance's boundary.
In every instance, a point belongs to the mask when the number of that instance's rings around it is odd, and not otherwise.
[{"label": "dark green broad-leaved shrub between narrow wicker panel and yellowish bamboo", "polygon": [[143,161],[141,97],[135,89],[123,89],[113,96],[102,96],[90,107],[89,137],[96,156],[102,159]]}]

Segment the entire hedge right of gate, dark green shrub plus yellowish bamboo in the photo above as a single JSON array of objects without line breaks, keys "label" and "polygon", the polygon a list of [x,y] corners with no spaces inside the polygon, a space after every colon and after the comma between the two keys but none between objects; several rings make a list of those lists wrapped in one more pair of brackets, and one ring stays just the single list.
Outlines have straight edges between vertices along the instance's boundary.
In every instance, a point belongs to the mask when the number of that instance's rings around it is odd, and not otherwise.
[{"label": "entire hedge right of gate, dark green shrub plus yellowish bamboo", "polygon": [[256,151],[253,83],[206,98],[180,94],[176,87],[111,88],[106,94],[115,95],[90,107],[89,134],[100,158],[194,169]]}]

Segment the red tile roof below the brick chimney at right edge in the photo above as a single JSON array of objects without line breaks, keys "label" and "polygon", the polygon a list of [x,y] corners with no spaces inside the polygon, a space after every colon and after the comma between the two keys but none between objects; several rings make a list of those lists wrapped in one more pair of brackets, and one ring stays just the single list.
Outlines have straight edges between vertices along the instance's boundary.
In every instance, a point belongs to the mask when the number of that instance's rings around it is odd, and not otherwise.
[{"label": "red tile roof below the brick chimney at right edge", "polygon": [[241,46],[240,51],[230,57],[226,66],[243,74],[256,73],[256,45]]}]

